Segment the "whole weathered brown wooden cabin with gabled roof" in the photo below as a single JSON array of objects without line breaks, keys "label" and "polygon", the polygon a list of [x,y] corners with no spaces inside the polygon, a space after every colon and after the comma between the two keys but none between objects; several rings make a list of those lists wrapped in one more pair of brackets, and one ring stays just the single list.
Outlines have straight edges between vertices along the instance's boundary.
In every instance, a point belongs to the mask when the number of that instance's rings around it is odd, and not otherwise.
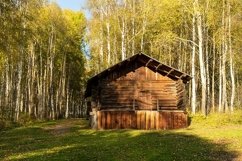
[{"label": "whole weathered brown wooden cabin with gabled roof", "polygon": [[85,96],[95,129],[187,127],[186,73],[143,53],[92,77]]}]

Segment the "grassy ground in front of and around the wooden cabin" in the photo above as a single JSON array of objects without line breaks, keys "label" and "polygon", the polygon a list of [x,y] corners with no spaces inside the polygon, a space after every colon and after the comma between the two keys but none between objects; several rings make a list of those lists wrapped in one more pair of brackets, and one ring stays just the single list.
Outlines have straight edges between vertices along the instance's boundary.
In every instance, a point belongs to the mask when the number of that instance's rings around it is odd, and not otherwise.
[{"label": "grassy ground in front of and around the wooden cabin", "polygon": [[194,116],[179,130],[103,130],[84,119],[0,131],[0,160],[242,161],[242,112]]}]

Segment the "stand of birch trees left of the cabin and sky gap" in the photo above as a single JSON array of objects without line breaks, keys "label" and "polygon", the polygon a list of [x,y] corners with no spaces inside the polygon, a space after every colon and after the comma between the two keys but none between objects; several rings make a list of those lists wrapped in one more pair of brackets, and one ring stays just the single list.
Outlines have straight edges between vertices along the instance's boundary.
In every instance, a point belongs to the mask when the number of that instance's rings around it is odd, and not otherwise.
[{"label": "stand of birch trees left of the cabin and sky gap", "polygon": [[0,106],[9,111],[4,117],[26,124],[28,115],[63,117],[71,103],[75,108],[67,114],[77,111],[86,79],[84,14],[46,0],[3,0],[0,14]]}]

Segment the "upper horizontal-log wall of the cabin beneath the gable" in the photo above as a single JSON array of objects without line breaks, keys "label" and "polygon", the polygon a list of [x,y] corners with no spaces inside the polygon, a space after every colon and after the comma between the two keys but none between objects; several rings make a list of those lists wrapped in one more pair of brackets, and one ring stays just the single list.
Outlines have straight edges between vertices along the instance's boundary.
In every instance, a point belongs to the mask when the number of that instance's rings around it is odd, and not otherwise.
[{"label": "upper horizontal-log wall of the cabin beneath the gable", "polygon": [[[137,66],[137,64],[136,64]],[[116,71],[92,90],[100,110],[176,110],[184,106],[184,84],[153,72],[148,67]],[[127,74],[124,74],[127,73]]]}]

